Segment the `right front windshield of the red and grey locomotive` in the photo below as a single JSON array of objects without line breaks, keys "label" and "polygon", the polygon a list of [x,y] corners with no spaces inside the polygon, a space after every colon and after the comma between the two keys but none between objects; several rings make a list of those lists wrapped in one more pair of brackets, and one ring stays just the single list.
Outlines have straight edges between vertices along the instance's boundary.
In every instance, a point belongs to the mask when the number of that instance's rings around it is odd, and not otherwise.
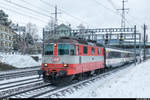
[{"label": "right front windshield of the red and grey locomotive", "polygon": [[75,55],[75,46],[71,44],[58,44],[58,55]]}]

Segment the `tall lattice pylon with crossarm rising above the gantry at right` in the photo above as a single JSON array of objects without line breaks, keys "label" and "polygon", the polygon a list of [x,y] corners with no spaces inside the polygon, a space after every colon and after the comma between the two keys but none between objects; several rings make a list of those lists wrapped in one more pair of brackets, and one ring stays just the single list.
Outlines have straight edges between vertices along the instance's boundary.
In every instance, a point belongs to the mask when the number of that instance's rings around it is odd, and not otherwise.
[{"label": "tall lattice pylon with crossarm rising above the gantry at right", "polygon": [[125,28],[125,21],[126,21],[126,17],[125,17],[125,13],[126,11],[129,10],[129,8],[125,8],[125,0],[122,0],[122,9],[118,9],[118,10],[121,10],[122,11],[122,19],[121,19],[121,28]]}]

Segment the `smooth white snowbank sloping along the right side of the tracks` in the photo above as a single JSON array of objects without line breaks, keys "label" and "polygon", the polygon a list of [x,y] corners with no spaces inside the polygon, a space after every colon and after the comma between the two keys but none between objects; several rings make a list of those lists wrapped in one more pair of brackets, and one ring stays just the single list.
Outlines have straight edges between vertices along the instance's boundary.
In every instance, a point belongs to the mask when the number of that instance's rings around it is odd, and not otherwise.
[{"label": "smooth white snowbank sloping along the right side of the tracks", "polygon": [[150,98],[149,64],[131,65],[63,98]]}]

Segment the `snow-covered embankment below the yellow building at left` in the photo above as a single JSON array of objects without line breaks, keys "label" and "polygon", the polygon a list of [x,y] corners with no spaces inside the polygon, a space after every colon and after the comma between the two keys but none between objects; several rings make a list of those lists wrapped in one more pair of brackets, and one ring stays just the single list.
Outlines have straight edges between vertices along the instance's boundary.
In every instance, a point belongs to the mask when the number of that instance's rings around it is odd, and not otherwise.
[{"label": "snow-covered embankment below the yellow building at left", "polygon": [[8,64],[8,65],[12,65],[16,68],[40,66],[41,65],[41,55],[36,55],[40,58],[40,60],[38,62],[36,62],[31,56],[33,56],[33,55],[0,54],[0,62]]}]

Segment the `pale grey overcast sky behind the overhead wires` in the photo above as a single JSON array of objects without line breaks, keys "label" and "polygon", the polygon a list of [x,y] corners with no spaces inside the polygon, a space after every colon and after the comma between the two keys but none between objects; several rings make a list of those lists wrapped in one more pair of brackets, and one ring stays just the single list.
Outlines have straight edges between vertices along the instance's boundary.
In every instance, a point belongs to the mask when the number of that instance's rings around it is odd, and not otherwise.
[{"label": "pale grey overcast sky behind the overhead wires", "polygon": [[[73,28],[81,23],[89,28],[121,26],[121,11],[119,13],[115,9],[122,8],[122,0],[0,0],[0,8],[14,23],[25,25],[31,22],[39,29],[48,23],[50,16],[54,17],[51,13],[54,13],[56,4],[61,12],[58,15],[59,24],[71,24]],[[126,26],[137,25],[141,32],[144,23],[149,28],[149,4],[150,0],[128,0],[125,3],[125,7],[130,9],[126,13]],[[42,33],[39,32],[39,35],[42,36]]]}]

